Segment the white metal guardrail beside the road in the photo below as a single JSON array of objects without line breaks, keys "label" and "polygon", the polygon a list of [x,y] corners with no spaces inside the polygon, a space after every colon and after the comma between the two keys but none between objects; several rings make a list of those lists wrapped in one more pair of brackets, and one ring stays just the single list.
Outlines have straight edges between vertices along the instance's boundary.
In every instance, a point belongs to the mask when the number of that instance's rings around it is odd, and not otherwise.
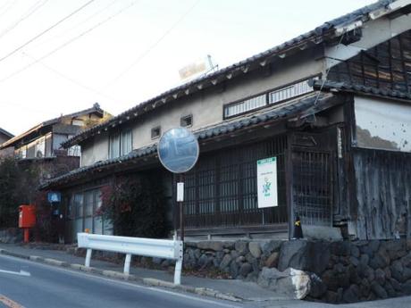
[{"label": "white metal guardrail beside the road", "polygon": [[103,250],[126,254],[124,273],[130,274],[131,255],[176,260],[174,284],[180,285],[183,243],[178,240],[141,237],[114,237],[99,234],[78,233],[78,246],[87,248],[85,266],[90,266],[92,250]]}]

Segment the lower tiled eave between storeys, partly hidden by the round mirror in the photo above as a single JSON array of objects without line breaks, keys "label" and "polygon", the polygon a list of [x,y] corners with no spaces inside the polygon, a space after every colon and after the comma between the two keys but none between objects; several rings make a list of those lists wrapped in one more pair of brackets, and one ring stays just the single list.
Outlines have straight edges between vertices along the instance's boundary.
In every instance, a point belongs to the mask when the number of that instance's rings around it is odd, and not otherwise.
[{"label": "lower tiled eave between storeys, partly hidden by the round mirror", "polygon": [[[323,103],[325,103],[328,100],[328,98],[330,98],[331,96],[332,96],[331,94],[323,94],[323,93],[315,92],[314,94],[311,94],[309,96],[304,96],[290,103],[278,105],[278,107],[272,110],[269,110],[269,111],[255,113],[248,117],[243,117],[241,120],[224,122],[214,127],[210,127],[207,129],[201,129],[195,132],[195,135],[197,136],[199,140],[205,140],[208,138],[229,134],[239,129],[246,129],[247,127],[252,127],[258,124],[262,124],[264,122],[285,120],[290,117],[296,116],[300,112],[304,112],[309,109],[313,109],[313,112],[315,112],[316,111],[315,108],[316,107],[321,108]],[[156,152],[157,152],[157,145],[142,147],[142,148],[133,150],[132,152],[130,152],[130,154],[127,154],[127,155],[124,155],[118,158],[108,159],[103,162],[95,162],[92,165],[81,167],[74,171],[63,174],[60,177],[47,181],[45,184],[43,184],[40,187],[40,189],[47,189],[48,187],[51,187],[51,186],[57,186],[68,180],[81,177],[82,175],[86,175],[88,172],[102,170],[102,169],[105,169],[107,167],[113,166],[118,163],[136,160],[143,156],[156,154]]]}]

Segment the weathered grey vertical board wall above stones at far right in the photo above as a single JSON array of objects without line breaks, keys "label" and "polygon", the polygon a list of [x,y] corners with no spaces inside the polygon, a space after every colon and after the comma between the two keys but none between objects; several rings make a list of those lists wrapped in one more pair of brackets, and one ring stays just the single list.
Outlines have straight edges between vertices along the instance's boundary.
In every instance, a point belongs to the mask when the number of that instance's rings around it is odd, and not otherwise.
[{"label": "weathered grey vertical board wall above stones at far right", "polygon": [[357,237],[409,237],[411,154],[357,148],[353,149],[353,162]]}]

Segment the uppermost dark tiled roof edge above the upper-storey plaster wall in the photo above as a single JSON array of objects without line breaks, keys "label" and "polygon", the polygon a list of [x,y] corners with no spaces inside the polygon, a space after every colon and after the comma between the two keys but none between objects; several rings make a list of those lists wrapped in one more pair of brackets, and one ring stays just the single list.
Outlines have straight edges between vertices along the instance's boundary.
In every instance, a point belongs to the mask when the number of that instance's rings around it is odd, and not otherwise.
[{"label": "uppermost dark tiled roof edge above the upper-storey plaster wall", "polygon": [[223,79],[225,75],[231,75],[232,77],[235,74],[240,73],[241,71],[247,71],[247,68],[249,68],[251,65],[255,63],[270,62],[275,55],[285,55],[285,53],[289,50],[298,47],[302,47],[301,49],[304,49],[305,47],[303,48],[303,46],[305,46],[308,43],[320,44],[328,37],[332,37],[334,35],[334,29],[344,25],[348,25],[355,21],[367,21],[369,19],[368,14],[370,12],[385,8],[392,2],[394,1],[380,0],[374,4],[367,5],[354,12],[350,12],[348,14],[340,16],[339,18],[336,18],[334,20],[324,22],[321,26],[311,31],[308,31],[298,37],[294,37],[289,41],[282,43],[279,46],[274,46],[273,48],[268,49],[263,53],[251,56],[241,62],[237,62],[226,68],[223,68],[220,71],[215,71],[214,73],[208,74],[205,77],[194,79],[180,87],[174,87],[171,90],[168,90],[159,96],[155,96],[154,98],[149,99],[146,102],[136,105],[135,107],[131,108],[126,112],[122,112],[110,121],[106,121],[105,123],[96,125],[96,127],[81,132],[77,136],[67,140],[65,143],[62,144],[62,146],[69,147],[75,145],[81,142],[82,140],[87,139],[90,136],[93,136],[100,129],[110,129],[110,127],[121,125],[125,121],[130,121],[131,118],[134,118],[149,110],[155,109],[157,106],[166,104],[169,100],[176,99],[179,95],[191,95],[192,93],[197,92],[200,89],[211,87],[211,85],[217,84],[219,82],[219,79]]}]

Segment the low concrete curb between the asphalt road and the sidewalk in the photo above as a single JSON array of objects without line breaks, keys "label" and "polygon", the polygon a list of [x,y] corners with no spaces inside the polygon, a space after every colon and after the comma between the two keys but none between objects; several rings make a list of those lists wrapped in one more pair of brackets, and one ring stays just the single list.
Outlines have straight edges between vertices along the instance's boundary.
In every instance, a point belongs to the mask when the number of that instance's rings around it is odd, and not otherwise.
[{"label": "low concrete curb between the asphalt road and the sidewalk", "polygon": [[242,299],[237,296],[234,296],[232,294],[222,293],[222,292],[216,291],[208,287],[191,287],[187,285],[175,285],[170,281],[165,281],[161,279],[139,278],[135,275],[124,274],[119,271],[100,270],[94,267],[86,267],[84,265],[77,264],[77,263],[69,263],[69,262],[63,262],[63,261],[59,261],[59,260],[55,260],[51,258],[44,258],[38,255],[17,254],[17,253],[7,251],[5,249],[0,249],[0,254],[10,255],[16,258],[30,260],[33,262],[46,263],[48,265],[52,265],[56,267],[69,268],[75,271],[84,271],[88,273],[99,274],[99,275],[112,278],[112,279],[138,281],[140,283],[143,283],[151,287],[167,287],[167,288],[177,289],[177,290],[188,292],[188,293],[197,294],[199,296],[209,296],[209,297],[214,297],[214,298],[231,301],[231,302],[242,302]]}]

